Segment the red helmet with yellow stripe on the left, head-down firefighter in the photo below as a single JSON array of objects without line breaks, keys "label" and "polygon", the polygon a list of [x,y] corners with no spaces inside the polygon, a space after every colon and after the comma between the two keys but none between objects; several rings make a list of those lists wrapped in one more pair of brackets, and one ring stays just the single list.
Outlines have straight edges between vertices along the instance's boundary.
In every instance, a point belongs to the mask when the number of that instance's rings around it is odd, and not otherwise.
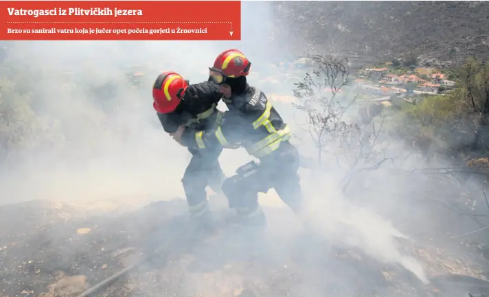
[{"label": "red helmet with yellow stripe on the left, head-down firefighter", "polygon": [[169,113],[179,105],[188,80],[175,72],[163,72],[153,84],[153,108],[160,113]]}]

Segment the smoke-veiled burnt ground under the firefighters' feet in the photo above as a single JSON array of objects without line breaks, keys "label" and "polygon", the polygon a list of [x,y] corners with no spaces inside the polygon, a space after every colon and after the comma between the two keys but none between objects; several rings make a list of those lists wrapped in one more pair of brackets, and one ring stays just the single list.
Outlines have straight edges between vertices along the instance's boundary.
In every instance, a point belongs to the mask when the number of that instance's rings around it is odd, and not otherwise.
[{"label": "smoke-veiled burnt ground under the firefighters' feet", "polygon": [[476,279],[484,278],[481,257],[455,258],[433,243],[405,242],[430,274],[431,285],[423,285],[397,265],[307,237],[283,209],[265,211],[272,222],[264,231],[192,233],[183,200],[126,213],[45,201],[1,206],[0,296],[78,296],[145,255],[148,261],[93,296],[467,296],[486,290]]}]

